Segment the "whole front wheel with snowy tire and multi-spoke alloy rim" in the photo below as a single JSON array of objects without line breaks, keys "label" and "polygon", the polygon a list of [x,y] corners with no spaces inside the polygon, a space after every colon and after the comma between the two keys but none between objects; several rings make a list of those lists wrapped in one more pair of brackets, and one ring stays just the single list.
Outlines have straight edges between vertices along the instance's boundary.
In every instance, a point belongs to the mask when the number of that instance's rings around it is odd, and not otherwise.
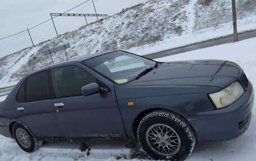
[{"label": "whole front wheel with snowy tire and multi-spoke alloy rim", "polygon": [[142,148],[156,160],[185,160],[195,145],[188,123],[165,111],[152,112],[141,119],[137,136]]}]

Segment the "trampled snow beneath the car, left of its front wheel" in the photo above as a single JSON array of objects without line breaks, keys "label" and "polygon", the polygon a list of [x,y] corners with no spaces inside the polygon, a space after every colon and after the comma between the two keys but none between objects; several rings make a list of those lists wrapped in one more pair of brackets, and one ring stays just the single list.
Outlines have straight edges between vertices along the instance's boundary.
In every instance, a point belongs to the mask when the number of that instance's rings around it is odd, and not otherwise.
[{"label": "trampled snow beneath the car, left of its front wheel", "polygon": [[0,135],[0,161],[24,160],[116,160],[116,156],[130,155],[130,149],[120,143],[89,143],[90,155],[80,151],[80,142],[51,142],[33,153],[25,153],[16,141]]}]

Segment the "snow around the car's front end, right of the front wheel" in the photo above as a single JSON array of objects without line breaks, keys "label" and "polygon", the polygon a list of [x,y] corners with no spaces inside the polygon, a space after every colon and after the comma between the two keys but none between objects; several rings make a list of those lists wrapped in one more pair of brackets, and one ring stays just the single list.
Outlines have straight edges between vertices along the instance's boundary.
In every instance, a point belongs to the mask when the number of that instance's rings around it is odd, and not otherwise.
[{"label": "snow around the car's front end, right of the front wheel", "polygon": [[[158,61],[182,61],[190,59],[225,59],[238,63],[256,86],[256,38],[243,40],[238,43],[218,45],[163,57]],[[248,130],[240,137],[230,140],[213,142],[195,146],[193,154],[188,160],[256,160],[256,105],[253,107],[253,117]]]}]

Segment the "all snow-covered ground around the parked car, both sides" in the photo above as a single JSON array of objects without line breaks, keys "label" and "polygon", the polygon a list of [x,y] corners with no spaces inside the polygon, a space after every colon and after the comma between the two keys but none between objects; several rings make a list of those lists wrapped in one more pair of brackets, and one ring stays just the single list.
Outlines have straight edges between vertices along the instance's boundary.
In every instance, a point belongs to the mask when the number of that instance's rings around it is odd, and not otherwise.
[{"label": "all snow-covered ground around the parked car, both sides", "polygon": [[[215,47],[194,50],[175,56],[157,59],[158,61],[180,61],[188,59],[225,59],[239,63],[244,68],[248,79],[256,86],[256,38],[238,43],[218,45]],[[256,105],[248,130],[240,137],[230,140],[196,145],[188,161],[205,160],[256,160]],[[80,143],[48,143],[35,153],[25,153],[12,139],[0,136],[0,161],[8,160],[116,160],[116,156],[126,155],[129,158],[130,149],[125,143],[91,143],[92,150],[87,156],[79,150]],[[124,158],[124,157],[123,157]],[[126,160],[126,159],[124,159]],[[138,159],[133,159],[138,160]]]}]

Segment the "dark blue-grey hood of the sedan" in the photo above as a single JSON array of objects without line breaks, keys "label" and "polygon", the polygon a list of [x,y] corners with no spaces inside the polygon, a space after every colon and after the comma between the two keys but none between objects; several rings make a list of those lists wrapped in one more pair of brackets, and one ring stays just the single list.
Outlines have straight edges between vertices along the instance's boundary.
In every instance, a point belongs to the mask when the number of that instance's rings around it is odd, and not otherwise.
[{"label": "dark blue-grey hood of the sedan", "polygon": [[239,80],[243,70],[230,61],[164,62],[128,85],[198,85],[225,88]]}]

